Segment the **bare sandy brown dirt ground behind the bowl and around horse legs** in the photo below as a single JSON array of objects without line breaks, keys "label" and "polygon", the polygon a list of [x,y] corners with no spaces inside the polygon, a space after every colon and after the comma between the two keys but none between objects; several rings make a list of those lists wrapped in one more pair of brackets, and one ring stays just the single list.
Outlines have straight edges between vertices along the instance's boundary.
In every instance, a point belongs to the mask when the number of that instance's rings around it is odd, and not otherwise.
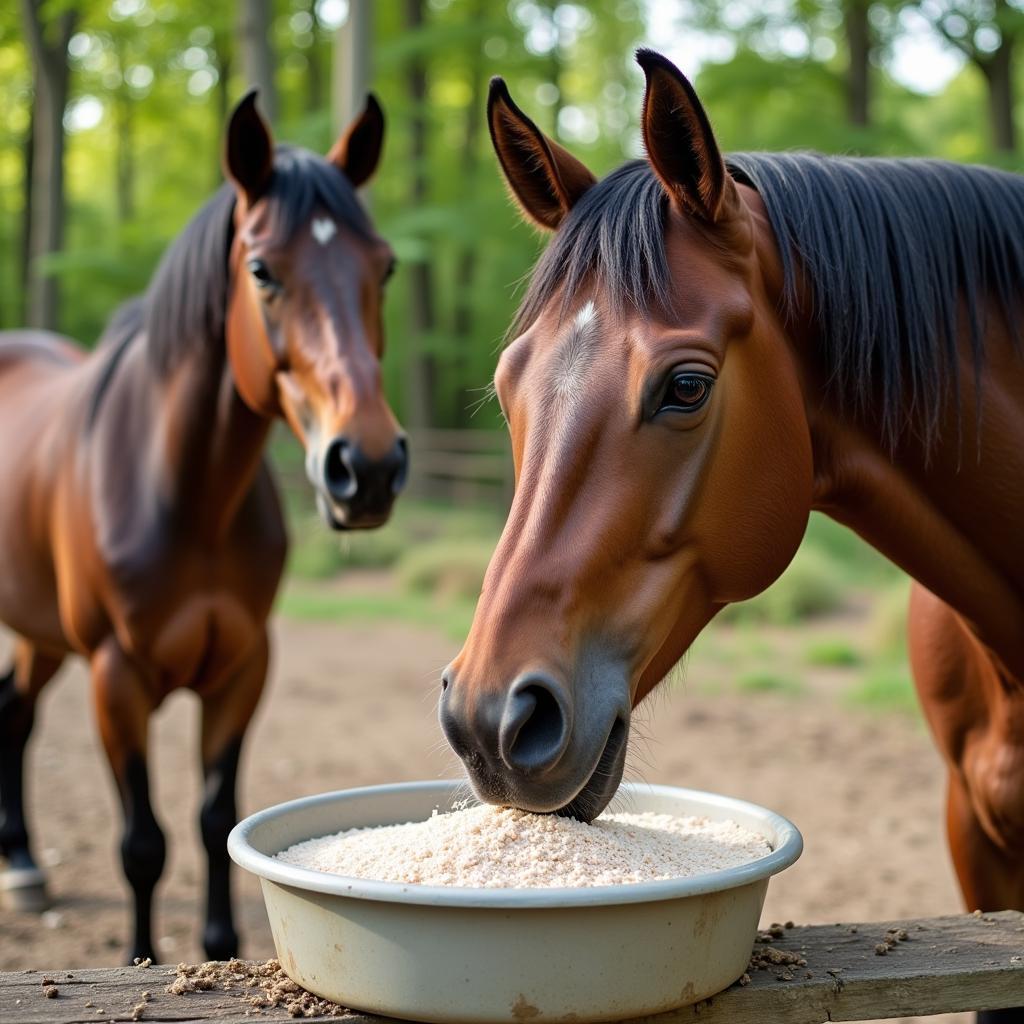
[{"label": "bare sandy brown dirt ground behind the bowl and around horse legs", "polygon": [[[438,673],[456,648],[412,626],[279,621],[271,681],[245,755],[243,810],[458,775],[434,715]],[[694,671],[641,715],[647,738],[630,776],[749,798],[799,825],[806,852],[772,882],[765,922],[959,909],[941,828],[943,771],[921,725],[850,710],[818,689],[800,697],[701,693]],[[156,807],[170,843],[157,914],[168,962],[202,957],[197,727],[187,694],[153,723]],[[119,815],[81,665],[44,694],[30,757],[35,847],[54,906],[42,919],[0,911],[0,968],[119,964],[127,933]],[[253,880],[238,878],[237,903],[243,953],[272,954]]]}]

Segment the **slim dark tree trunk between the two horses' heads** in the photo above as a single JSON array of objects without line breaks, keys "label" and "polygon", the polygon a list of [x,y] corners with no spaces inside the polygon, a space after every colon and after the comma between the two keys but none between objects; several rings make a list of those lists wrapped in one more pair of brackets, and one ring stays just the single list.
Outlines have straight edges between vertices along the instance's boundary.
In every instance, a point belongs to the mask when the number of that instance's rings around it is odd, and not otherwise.
[{"label": "slim dark tree trunk between the two horses' heads", "polygon": [[[406,28],[419,32],[424,25],[423,0],[406,0]],[[406,71],[406,88],[412,100],[410,138],[412,167],[410,171],[411,209],[420,209],[427,201],[427,67],[422,51],[418,51]],[[436,365],[425,350],[424,341],[434,331],[433,274],[429,260],[417,260],[410,268],[410,374],[409,426],[429,427],[433,419]]]}]

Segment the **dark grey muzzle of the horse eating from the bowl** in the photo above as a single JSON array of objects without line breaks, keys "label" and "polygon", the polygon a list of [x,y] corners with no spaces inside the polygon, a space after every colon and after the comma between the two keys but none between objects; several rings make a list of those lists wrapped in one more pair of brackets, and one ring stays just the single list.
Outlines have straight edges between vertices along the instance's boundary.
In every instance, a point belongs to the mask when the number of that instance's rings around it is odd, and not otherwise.
[{"label": "dark grey muzzle of the horse eating from the bowl", "polygon": [[577,685],[528,672],[506,690],[475,692],[450,668],[439,718],[485,803],[592,821],[622,780],[630,693],[617,671]]}]

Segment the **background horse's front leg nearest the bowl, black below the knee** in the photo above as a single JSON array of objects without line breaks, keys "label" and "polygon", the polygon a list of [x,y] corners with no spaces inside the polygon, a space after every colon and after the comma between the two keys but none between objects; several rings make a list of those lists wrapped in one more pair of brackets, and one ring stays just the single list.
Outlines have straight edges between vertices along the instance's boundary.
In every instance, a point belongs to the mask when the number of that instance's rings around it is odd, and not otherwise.
[{"label": "background horse's front leg nearest the bowl, black below the knee", "polygon": [[245,666],[222,686],[203,697],[205,788],[200,829],[209,863],[203,946],[210,959],[227,959],[239,951],[239,936],[231,910],[227,834],[238,819],[236,779],[242,740],[263,691],[266,667],[267,641],[264,635]]}]

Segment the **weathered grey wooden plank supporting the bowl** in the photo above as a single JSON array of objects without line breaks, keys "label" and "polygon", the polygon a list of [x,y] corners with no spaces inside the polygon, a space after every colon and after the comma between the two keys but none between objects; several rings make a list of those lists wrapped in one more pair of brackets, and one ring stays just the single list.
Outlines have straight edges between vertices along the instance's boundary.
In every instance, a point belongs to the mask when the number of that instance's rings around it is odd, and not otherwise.
[{"label": "weathered grey wooden plank supporting the bowl", "polygon": [[[890,930],[903,930],[907,937],[878,955],[876,946],[896,934]],[[783,966],[752,971],[750,984],[733,985],[696,1007],[646,1018],[645,1024],[821,1024],[1024,1007],[1024,914],[1016,911],[794,928],[755,951],[769,947],[799,956],[806,967],[790,967],[793,980],[779,979]],[[249,992],[172,995],[166,987],[174,976],[166,966],[0,974],[0,1024],[294,1019],[283,1007],[257,1012],[246,1001]],[[44,994],[44,981],[56,988],[54,997]],[[358,1013],[332,1019],[389,1024]]]}]

